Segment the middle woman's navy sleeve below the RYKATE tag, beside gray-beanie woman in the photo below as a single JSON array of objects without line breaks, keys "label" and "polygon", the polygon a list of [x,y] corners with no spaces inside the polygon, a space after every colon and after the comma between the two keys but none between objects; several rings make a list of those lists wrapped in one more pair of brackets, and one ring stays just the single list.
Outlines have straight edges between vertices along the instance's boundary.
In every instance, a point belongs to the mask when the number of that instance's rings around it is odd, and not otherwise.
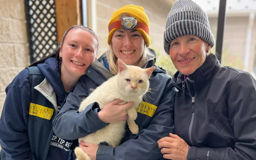
[{"label": "middle woman's navy sleeve below the RYKATE tag, beside gray-beanie woman", "polygon": [[146,129],[140,131],[134,139],[120,146],[100,145],[96,160],[156,160],[162,156],[157,141],[173,133],[174,129],[174,87],[171,78],[165,86],[156,112]]}]

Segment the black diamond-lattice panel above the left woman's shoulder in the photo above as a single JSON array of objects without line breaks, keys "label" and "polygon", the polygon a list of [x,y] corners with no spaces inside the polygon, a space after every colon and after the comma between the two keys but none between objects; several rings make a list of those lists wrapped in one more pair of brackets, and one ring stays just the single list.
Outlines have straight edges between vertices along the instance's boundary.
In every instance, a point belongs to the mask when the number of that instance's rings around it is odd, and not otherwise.
[{"label": "black diamond-lattice panel above the left woman's shoulder", "polygon": [[[38,6],[36,5],[36,1],[39,2]],[[29,56],[30,56],[31,64],[36,62],[39,59],[44,58],[45,56],[47,56],[49,54],[52,54],[54,49],[56,49],[56,47],[58,47],[55,0],[52,0],[52,1],[53,1],[53,3],[49,4],[48,3],[49,0],[45,0],[46,4],[43,4],[42,0],[24,0],[25,13],[26,13],[27,36],[28,36],[28,44],[29,44]],[[32,3],[31,6],[30,6],[29,2]],[[33,5],[36,6],[35,10],[33,10],[33,8],[32,8]],[[40,5],[42,5],[42,7],[43,7],[42,9],[40,9]],[[48,6],[50,5],[50,9],[47,9],[47,5]],[[51,13],[51,11],[50,11],[51,9],[54,10],[53,13]],[[36,13],[37,10],[39,10],[40,13],[37,14]],[[46,10],[47,12],[44,13],[44,10]],[[30,12],[32,12],[32,14]],[[36,19],[33,18],[34,14],[36,14]],[[39,16],[41,16],[41,14],[43,15],[43,18],[39,17]],[[47,17],[48,14],[51,15],[50,18]],[[38,18],[41,20],[39,22],[39,24],[36,21]],[[51,22],[52,18],[55,19],[54,22]],[[44,19],[46,19],[47,21],[44,22]],[[43,27],[40,26],[42,23],[44,23]],[[47,26],[49,23],[52,24],[50,27]],[[37,27],[35,27],[34,24],[36,24]],[[39,27],[41,28],[41,31],[37,30]],[[52,31],[53,27],[55,28],[54,31]],[[47,28],[48,30],[45,31],[44,30],[45,28]],[[35,32],[38,33],[37,36],[35,35]],[[44,36],[42,35],[43,32],[44,32]],[[51,32],[52,35],[49,35],[49,32]],[[41,36],[41,40],[39,39],[39,36]],[[48,40],[45,39],[46,36],[48,37]],[[55,36],[55,40],[52,39],[53,36]],[[34,38],[34,40],[33,40],[33,38]],[[39,42],[38,45],[36,45],[36,43],[35,43],[36,41]],[[43,41],[45,42],[44,45],[42,44]],[[50,41],[52,41],[52,44],[48,43]],[[40,45],[42,46],[41,49],[39,47]],[[39,50],[39,52],[36,52],[38,50]]]}]

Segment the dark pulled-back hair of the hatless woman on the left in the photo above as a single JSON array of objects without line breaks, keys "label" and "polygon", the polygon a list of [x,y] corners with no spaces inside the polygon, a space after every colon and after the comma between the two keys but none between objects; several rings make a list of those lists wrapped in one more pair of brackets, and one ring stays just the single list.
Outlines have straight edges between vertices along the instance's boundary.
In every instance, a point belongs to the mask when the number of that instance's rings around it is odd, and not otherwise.
[{"label": "dark pulled-back hair of the hatless woman on the left", "polygon": [[[98,44],[97,44],[97,52],[96,52],[96,56],[98,56],[98,54],[99,54],[99,39],[98,39],[96,33],[95,33],[92,29],[90,29],[90,28],[88,28],[88,27],[77,26],[77,25],[76,25],[76,26],[72,26],[72,27],[68,28],[68,30],[64,33],[64,35],[63,35],[63,37],[62,37],[62,41],[61,41],[61,43],[60,43],[60,46],[58,46],[58,47],[52,52],[52,54],[50,54],[50,55],[48,55],[48,56],[42,58],[41,60],[38,60],[37,62],[31,64],[31,65],[28,66],[28,67],[36,66],[36,65],[39,64],[39,63],[43,63],[44,60],[46,60],[46,59],[48,59],[48,58],[50,58],[50,57],[55,57],[56,59],[58,59],[58,58],[59,58],[59,55],[60,55],[60,48],[62,47],[62,44],[64,43],[64,40],[65,40],[65,38],[66,38],[66,35],[67,35],[67,33],[68,33],[70,30],[72,30],[72,29],[83,29],[83,30],[86,30],[86,31],[92,33],[92,35],[95,37],[95,39],[97,40],[97,43],[98,43]],[[60,61],[61,61],[61,60],[60,60]]]}]

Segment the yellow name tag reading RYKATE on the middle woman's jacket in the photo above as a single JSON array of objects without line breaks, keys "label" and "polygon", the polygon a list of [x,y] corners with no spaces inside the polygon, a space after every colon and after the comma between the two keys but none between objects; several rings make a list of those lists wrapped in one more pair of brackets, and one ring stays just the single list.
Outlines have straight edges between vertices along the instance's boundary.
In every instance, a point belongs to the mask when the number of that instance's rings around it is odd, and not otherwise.
[{"label": "yellow name tag reading RYKATE on the middle woman's jacket", "polygon": [[156,112],[156,108],[155,105],[142,101],[137,108],[137,112],[152,117]]}]

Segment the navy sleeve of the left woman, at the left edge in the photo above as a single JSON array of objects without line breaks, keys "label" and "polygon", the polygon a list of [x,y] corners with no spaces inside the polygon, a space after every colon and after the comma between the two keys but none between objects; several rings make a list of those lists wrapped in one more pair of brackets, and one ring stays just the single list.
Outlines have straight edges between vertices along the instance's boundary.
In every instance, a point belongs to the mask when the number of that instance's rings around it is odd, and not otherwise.
[{"label": "navy sleeve of the left woman, at the left edge", "polygon": [[27,130],[30,85],[28,81],[23,84],[13,82],[5,90],[6,99],[0,119],[0,144],[6,160],[36,160],[30,150]]}]

